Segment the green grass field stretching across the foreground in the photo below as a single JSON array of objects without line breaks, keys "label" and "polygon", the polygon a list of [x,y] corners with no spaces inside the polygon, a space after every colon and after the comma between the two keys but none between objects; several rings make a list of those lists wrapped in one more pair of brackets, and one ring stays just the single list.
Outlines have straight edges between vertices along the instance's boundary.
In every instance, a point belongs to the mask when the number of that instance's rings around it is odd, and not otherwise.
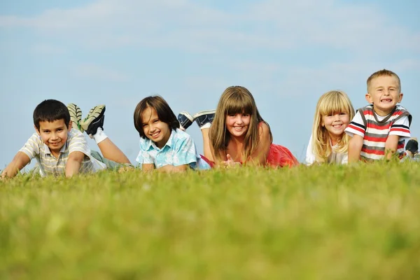
[{"label": "green grass field stretching across the foreground", "polygon": [[0,279],[420,279],[420,165],[0,182]]}]

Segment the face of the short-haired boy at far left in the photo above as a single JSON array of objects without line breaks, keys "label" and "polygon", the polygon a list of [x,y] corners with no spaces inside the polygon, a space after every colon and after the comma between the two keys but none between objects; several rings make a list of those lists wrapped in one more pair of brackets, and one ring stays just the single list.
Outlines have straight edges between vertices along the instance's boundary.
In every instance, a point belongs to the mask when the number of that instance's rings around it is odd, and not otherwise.
[{"label": "face of the short-haired boy at far left", "polygon": [[54,120],[53,122],[39,122],[39,130],[35,127],[36,133],[41,136],[45,145],[50,148],[50,151],[57,155],[62,146],[66,144],[67,132],[71,130],[71,122],[69,128],[66,127],[64,119]]}]

